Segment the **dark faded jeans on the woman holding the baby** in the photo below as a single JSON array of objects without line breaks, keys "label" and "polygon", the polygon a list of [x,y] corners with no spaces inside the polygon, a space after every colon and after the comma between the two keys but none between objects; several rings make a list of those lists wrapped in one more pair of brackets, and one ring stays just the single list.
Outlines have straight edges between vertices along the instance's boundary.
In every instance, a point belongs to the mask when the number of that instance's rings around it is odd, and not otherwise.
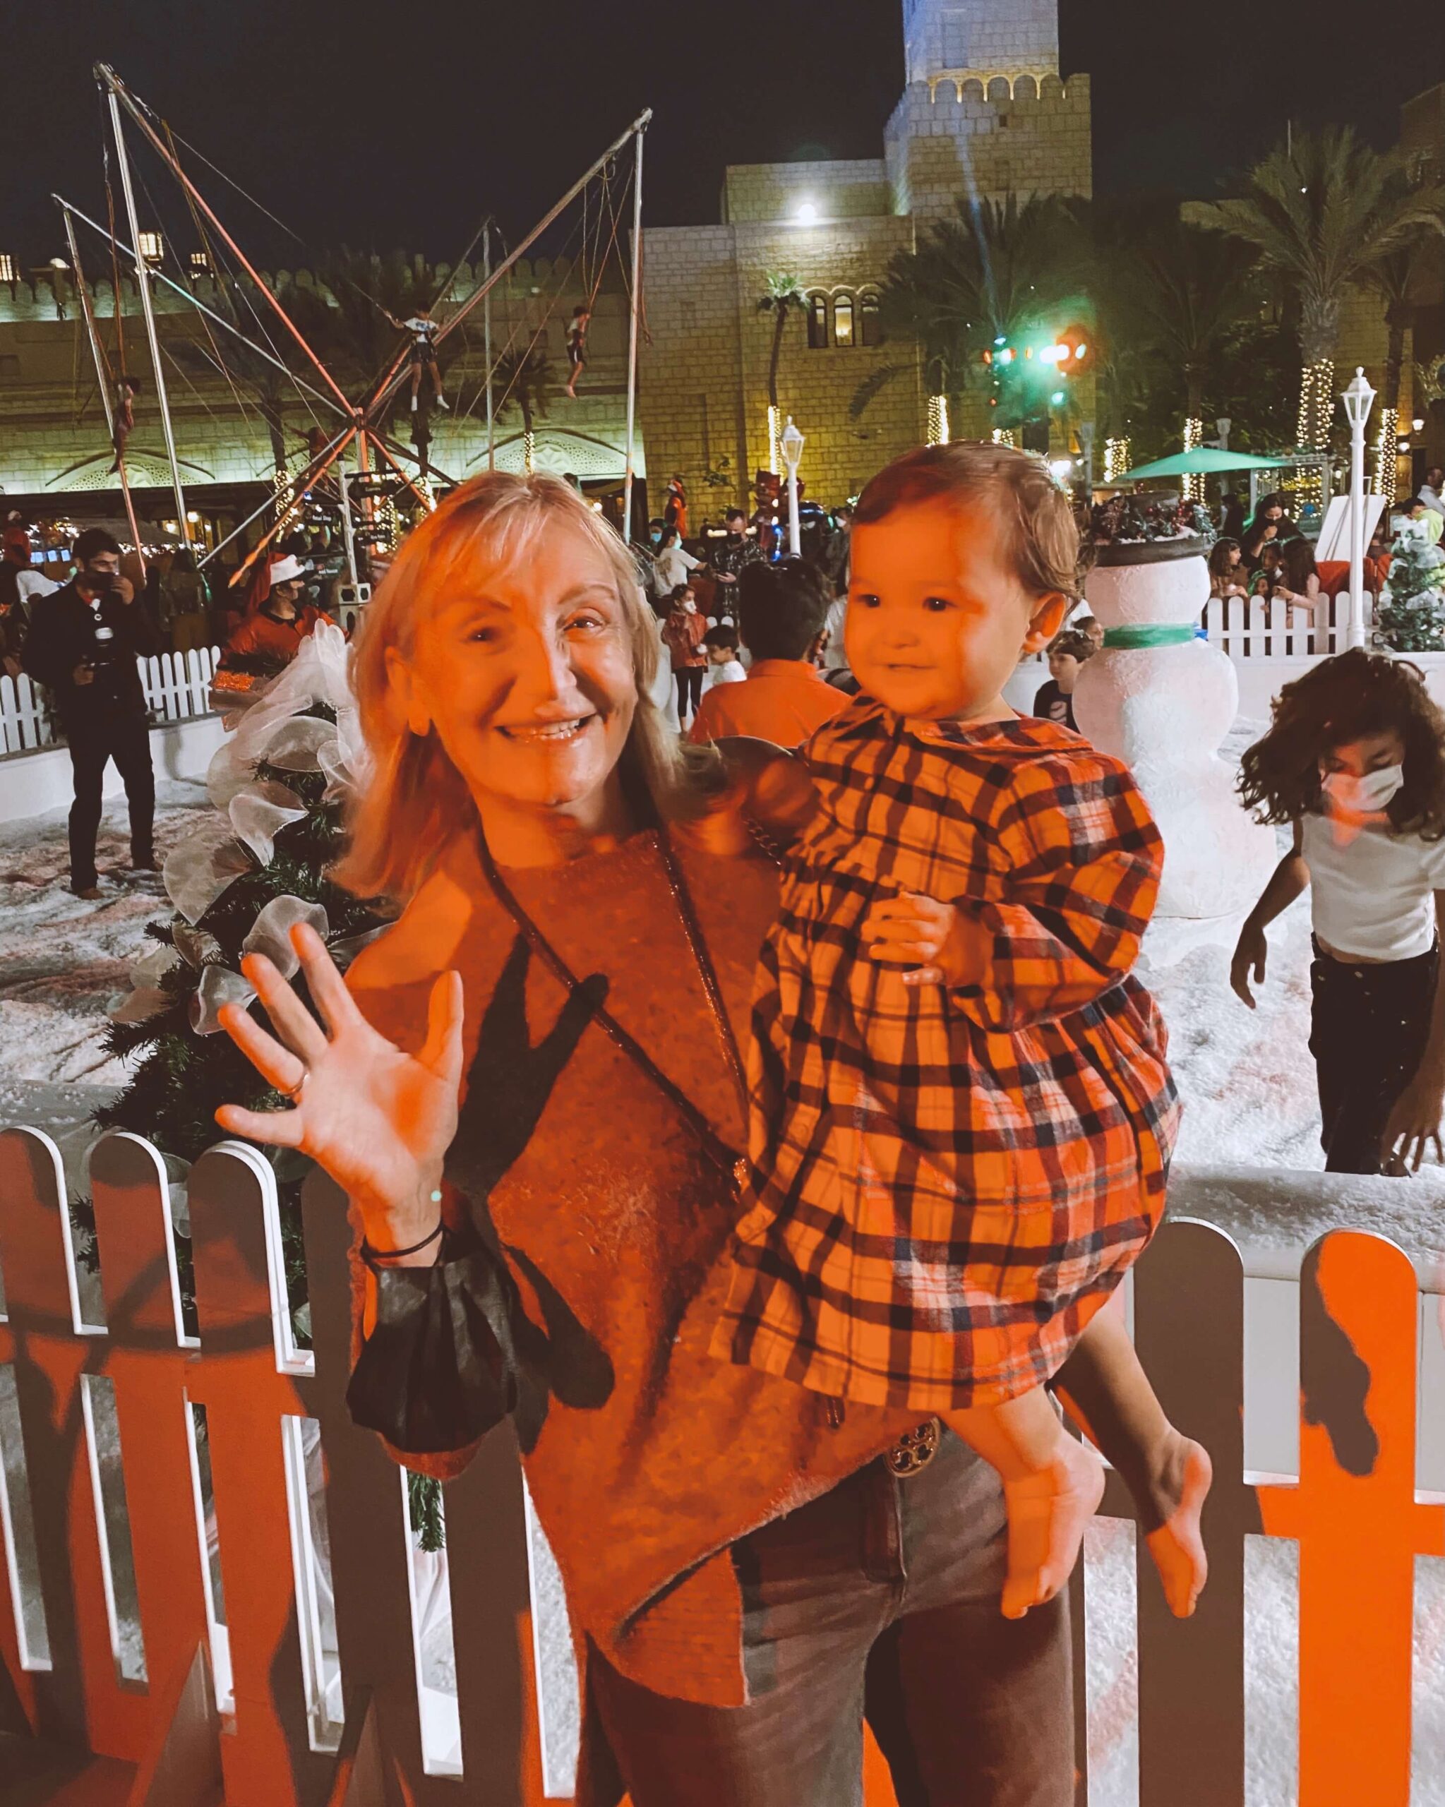
[{"label": "dark faded jeans on the woman holding the baby", "polygon": [[656,1695],[596,1652],[632,1807],[862,1807],[863,1718],[900,1807],[1071,1807],[1066,1596],[1004,1619],[993,1471],[945,1431],[733,1547],[750,1704]]}]

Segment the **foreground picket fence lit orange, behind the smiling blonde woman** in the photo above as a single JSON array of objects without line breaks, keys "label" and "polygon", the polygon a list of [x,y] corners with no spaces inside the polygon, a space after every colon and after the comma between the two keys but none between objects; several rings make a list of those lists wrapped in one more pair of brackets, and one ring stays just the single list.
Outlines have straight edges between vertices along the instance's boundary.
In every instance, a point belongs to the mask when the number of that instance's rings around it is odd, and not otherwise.
[{"label": "foreground picket fence lit orange, behind the smiling blonde woman", "polygon": [[[213,1807],[222,1787],[233,1807],[565,1800],[576,1675],[515,1437],[493,1431],[446,1485],[448,1561],[428,1576],[401,1475],[345,1406],[334,1189],[303,1200],[307,1352],[255,1149],[222,1144],[190,1173],[199,1334],[159,1155],[112,1133],[89,1184],[98,1283],[76,1270],[56,1146],[0,1133],[0,1729],[134,1764],[130,1807]],[[1131,1278],[1133,1330],[1214,1456],[1210,1583],[1183,1623],[1147,1559],[1136,1599],[1116,1579],[1107,1597],[1075,1588],[1078,1807],[1123,1800],[1105,1784],[1120,1713],[1082,1661],[1096,1614],[1127,1614],[1140,1807],[1441,1800],[1445,1756],[1418,1733],[1412,1747],[1412,1700],[1429,1724],[1445,1666],[1412,1635],[1422,1596],[1440,1597],[1418,1558],[1445,1554],[1445,1249],[1411,1212],[1425,1184],[1176,1171],[1170,1209],[1194,1222],[1167,1225]],[[1104,1511],[1131,1516],[1113,1476]],[[1288,1624],[1250,1623],[1259,1536],[1299,1550]],[[423,1648],[437,1592],[444,1688]],[[1297,1637],[1286,1702],[1248,1697],[1261,1632]],[[1290,1773],[1261,1787],[1281,1717]],[[867,1803],[892,1807],[876,1773]]]}]

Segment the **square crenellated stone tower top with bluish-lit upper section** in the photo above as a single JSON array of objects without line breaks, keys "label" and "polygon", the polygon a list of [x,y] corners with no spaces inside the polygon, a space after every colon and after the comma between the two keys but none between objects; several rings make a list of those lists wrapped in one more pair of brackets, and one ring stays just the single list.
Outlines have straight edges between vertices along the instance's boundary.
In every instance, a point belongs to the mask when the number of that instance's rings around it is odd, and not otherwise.
[{"label": "square crenellated stone tower top with bluish-lit upper section", "polygon": [[1089,195],[1089,78],[1058,70],[1057,0],[903,0],[909,87],[887,126],[894,208]]}]

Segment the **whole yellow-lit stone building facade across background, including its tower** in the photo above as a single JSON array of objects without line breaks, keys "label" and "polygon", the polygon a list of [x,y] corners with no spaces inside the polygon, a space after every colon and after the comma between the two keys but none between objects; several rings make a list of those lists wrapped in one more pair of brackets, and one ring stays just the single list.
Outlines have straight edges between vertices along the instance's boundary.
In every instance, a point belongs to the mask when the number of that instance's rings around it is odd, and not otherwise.
[{"label": "whole yellow-lit stone building facade across background, including its tower", "polygon": [[[806,313],[791,314],[784,331],[780,416],[791,414],[807,437],[802,475],[809,495],[838,502],[927,434],[918,347],[880,338],[878,295],[890,258],[914,246],[930,220],[952,213],[961,195],[1091,190],[1089,80],[1060,76],[1057,0],[898,4],[907,85],[876,159],[730,168],[715,224],[645,231],[648,332],[636,466],[643,477],[650,470],[654,511],[674,470],[701,520],[746,501],[753,473],[769,464],[773,316],[759,311],[769,275],[791,273],[807,296]],[[170,470],[139,296],[134,278],[123,278],[114,296],[103,248],[87,242],[87,253],[101,336],[114,343],[119,305],[128,360],[146,381],[128,466],[161,520],[175,510],[166,499]],[[166,258],[163,267],[173,280],[195,300],[217,305],[204,267],[182,271],[170,248]],[[430,275],[441,286],[452,273],[439,266]],[[468,295],[477,276],[455,271],[450,291]],[[305,271],[278,271],[275,280],[316,287]],[[79,515],[99,506],[99,497],[81,506],[81,495],[110,493],[116,479],[74,284],[60,260],[16,269],[0,246],[0,492],[31,502],[54,497],[58,508],[69,499]],[[497,291],[495,342],[527,343],[536,332],[551,352],[555,396],[536,423],[536,464],[603,486],[620,481],[625,461],[627,295],[612,267],[596,300],[592,363],[580,399],[571,401],[560,394],[564,332],[582,289],[580,273],[547,258],[524,262]],[[555,305],[547,313],[549,298]],[[200,316],[182,296],[161,287],[157,309],[164,345],[182,338],[204,343]],[[226,343],[220,334],[219,343]],[[170,351],[164,361],[188,499],[193,488],[202,513],[224,504],[233,519],[258,486],[275,481],[267,426],[244,381],[233,387],[195,358],[184,360],[182,374]],[[473,314],[468,351],[446,378],[468,407],[434,417],[432,459],[452,477],[484,468],[480,363],[480,318]],[[878,390],[858,410],[869,378]],[[361,394],[365,372],[343,376],[343,385]],[[312,416],[309,403],[287,392],[285,457],[293,468],[303,461],[303,435],[314,419],[325,416]],[[956,430],[977,432],[981,425],[983,417],[961,421]],[[392,432],[408,437],[405,396]],[[515,412],[504,416],[499,441],[499,463],[520,468]]]}]

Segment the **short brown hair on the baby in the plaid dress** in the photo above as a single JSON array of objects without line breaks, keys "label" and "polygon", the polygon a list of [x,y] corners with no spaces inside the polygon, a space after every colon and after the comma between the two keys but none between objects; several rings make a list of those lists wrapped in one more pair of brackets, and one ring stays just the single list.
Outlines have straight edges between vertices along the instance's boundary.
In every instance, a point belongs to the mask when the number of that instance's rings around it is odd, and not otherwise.
[{"label": "short brown hair on the baby in the plaid dress", "polygon": [[921,446],[885,464],[858,499],[854,526],[887,520],[919,502],[986,501],[1008,560],[1031,596],[1078,593],[1078,522],[1073,502],[1035,452],[961,439]]}]

